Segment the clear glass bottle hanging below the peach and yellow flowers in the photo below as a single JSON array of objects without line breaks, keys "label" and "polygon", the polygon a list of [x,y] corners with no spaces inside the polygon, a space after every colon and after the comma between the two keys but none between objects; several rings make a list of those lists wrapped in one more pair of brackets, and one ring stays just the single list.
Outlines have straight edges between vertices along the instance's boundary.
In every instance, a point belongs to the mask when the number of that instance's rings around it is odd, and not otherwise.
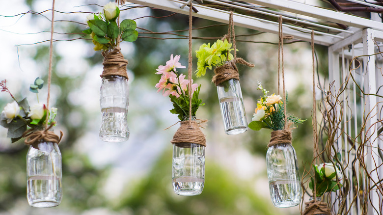
[{"label": "clear glass bottle hanging below the peach and yellow flowers", "polygon": [[288,208],[301,202],[301,179],[295,149],[291,144],[277,144],[267,150],[267,176],[270,196],[277,208]]}]

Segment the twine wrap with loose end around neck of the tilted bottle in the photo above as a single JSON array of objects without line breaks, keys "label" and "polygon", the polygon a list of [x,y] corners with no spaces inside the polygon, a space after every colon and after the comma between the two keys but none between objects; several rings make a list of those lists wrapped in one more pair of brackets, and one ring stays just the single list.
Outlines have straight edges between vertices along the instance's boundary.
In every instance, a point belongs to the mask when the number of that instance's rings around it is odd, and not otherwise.
[{"label": "twine wrap with loose end around neck of the tilted bottle", "polygon": [[212,82],[218,86],[224,81],[228,81],[230,79],[236,79],[239,81],[239,73],[238,68],[235,65],[236,63],[244,64],[249,67],[254,67],[254,64],[248,63],[243,58],[234,58],[229,62],[223,64],[222,66],[217,67],[214,70],[215,75],[213,76]]}]

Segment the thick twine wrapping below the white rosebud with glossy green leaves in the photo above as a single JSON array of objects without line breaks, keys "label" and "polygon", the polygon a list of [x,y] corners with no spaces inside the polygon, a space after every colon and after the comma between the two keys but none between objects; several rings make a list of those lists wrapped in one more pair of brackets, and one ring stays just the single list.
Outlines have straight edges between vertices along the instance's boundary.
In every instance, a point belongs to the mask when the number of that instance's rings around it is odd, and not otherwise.
[{"label": "thick twine wrapping below the white rosebud with glossy green leaves", "polygon": [[119,47],[114,48],[111,52],[103,52],[104,56],[104,71],[101,74],[101,78],[107,76],[122,76],[126,79],[128,74],[126,73],[126,65],[128,65],[128,60],[124,58],[124,55],[121,54],[121,49]]}]

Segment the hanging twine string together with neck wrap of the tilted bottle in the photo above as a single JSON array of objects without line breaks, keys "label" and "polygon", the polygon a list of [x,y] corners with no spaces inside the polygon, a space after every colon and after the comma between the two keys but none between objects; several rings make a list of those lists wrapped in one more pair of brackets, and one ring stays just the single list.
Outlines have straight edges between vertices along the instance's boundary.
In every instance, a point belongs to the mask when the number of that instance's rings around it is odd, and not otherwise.
[{"label": "hanging twine string together with neck wrap of the tilted bottle", "polygon": [[244,64],[249,67],[254,67],[254,64],[248,63],[243,58],[237,58],[237,45],[235,42],[235,31],[234,31],[234,20],[233,20],[233,11],[230,11],[229,16],[229,27],[227,30],[227,34],[225,34],[221,40],[228,40],[230,43],[231,38],[233,39],[233,48],[234,48],[234,59],[229,62],[223,64],[222,66],[217,67],[214,70],[215,75],[213,76],[212,82],[218,86],[224,81],[228,81],[230,79],[239,80],[238,68],[235,65],[236,63]]}]

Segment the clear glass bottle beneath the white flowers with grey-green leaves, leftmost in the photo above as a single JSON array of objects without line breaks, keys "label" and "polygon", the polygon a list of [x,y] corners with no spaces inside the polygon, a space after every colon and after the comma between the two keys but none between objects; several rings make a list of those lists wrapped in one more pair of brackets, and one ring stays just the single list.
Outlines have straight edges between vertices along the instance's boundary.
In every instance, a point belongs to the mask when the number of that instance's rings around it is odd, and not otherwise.
[{"label": "clear glass bottle beneath the white flowers with grey-green leaves, leftmost", "polygon": [[27,200],[36,208],[55,207],[62,198],[61,153],[57,143],[40,142],[27,153]]}]

